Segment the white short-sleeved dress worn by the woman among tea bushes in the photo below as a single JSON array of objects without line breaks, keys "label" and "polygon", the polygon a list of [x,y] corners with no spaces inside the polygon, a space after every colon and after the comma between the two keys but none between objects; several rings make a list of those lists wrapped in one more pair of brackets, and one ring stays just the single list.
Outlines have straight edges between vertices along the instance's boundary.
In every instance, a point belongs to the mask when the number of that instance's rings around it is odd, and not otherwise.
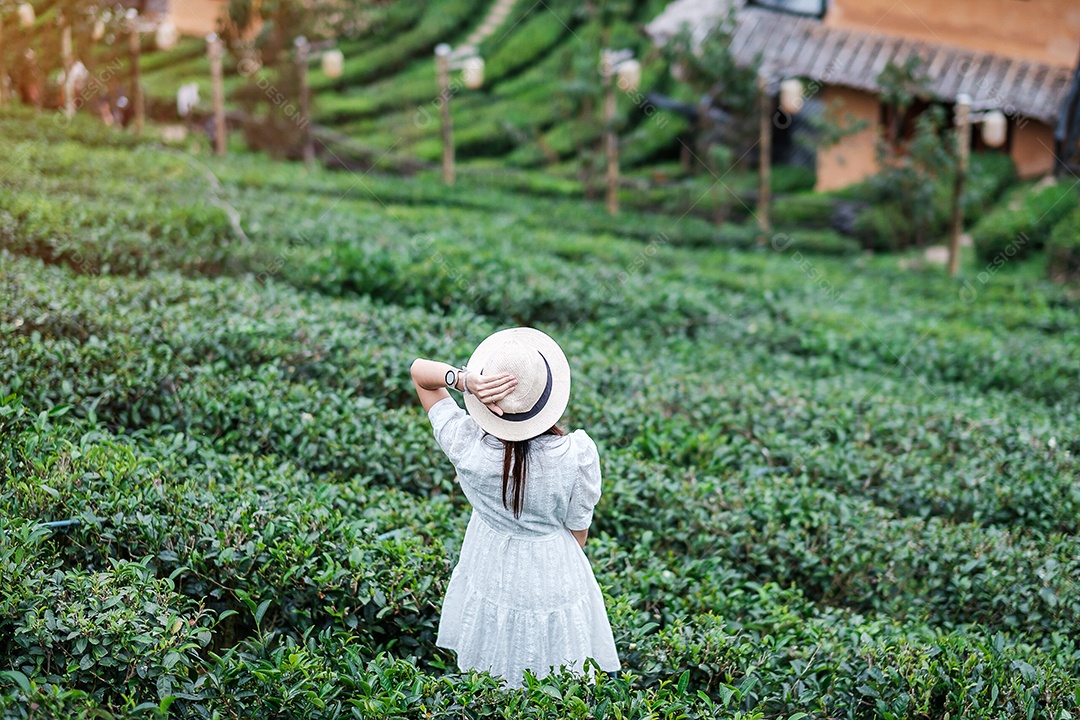
[{"label": "white short-sleeved dress worn by the woman among tea bushes", "polygon": [[502,443],[453,398],[428,413],[472,504],[450,576],[436,644],[462,670],[521,687],[527,668],[583,670],[586,657],[618,670],[611,625],[592,566],[570,530],[584,530],[600,497],[596,445],[584,431],[540,436],[529,448],[519,518],[502,506]]}]

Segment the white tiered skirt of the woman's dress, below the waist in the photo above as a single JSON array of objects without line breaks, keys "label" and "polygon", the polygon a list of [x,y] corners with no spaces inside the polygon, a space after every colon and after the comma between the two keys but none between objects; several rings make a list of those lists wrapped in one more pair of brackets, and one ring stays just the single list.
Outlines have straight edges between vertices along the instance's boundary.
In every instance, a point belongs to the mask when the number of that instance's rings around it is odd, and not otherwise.
[{"label": "white tiered skirt of the woman's dress, below the waist", "polygon": [[546,536],[496,531],[475,512],[443,602],[436,643],[461,669],[519,687],[525,669],[583,671],[586,657],[619,669],[604,597],[569,530]]}]

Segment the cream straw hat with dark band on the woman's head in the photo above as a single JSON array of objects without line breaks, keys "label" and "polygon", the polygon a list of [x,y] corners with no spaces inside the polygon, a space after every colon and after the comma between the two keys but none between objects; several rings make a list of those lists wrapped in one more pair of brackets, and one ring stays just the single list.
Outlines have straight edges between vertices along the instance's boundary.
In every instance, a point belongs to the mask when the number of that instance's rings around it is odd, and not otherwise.
[{"label": "cream straw hat with dark band on the woman's head", "polygon": [[570,365],[551,337],[531,327],[499,330],[476,345],[469,370],[478,375],[510,372],[517,378],[514,392],[499,402],[498,416],[465,395],[465,409],[476,424],[503,440],[525,440],[542,435],[566,410],[570,399]]}]

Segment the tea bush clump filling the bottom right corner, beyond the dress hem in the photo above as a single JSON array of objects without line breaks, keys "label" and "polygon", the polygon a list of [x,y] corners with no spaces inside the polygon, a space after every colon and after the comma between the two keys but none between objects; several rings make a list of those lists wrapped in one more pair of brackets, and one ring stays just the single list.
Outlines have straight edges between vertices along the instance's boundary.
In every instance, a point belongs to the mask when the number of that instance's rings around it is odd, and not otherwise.
[{"label": "tea bush clump filling the bottom right corner, beyond the dress hem", "polygon": [[[643,677],[688,667],[690,687],[738,688],[768,717],[1068,717],[1075,682],[1048,656],[985,628],[928,631],[889,617],[815,612],[772,584],[728,585],[716,612],[681,620],[632,653]],[[752,600],[751,600],[752,598]],[[750,600],[747,602],[747,600]]]}]

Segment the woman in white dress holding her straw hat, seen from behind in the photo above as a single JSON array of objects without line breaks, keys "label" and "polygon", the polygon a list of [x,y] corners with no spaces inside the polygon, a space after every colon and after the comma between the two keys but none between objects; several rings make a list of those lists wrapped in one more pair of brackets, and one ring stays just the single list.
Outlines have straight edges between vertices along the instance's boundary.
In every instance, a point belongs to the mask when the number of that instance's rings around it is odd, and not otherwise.
[{"label": "woman in white dress holding her straw hat, seen from behind", "polygon": [[[584,554],[600,495],[596,445],[556,424],[570,367],[532,328],[484,340],[460,369],[418,358],[413,384],[435,439],[472,504],[461,556],[443,602],[436,644],[458,667],[516,688],[586,657],[619,669],[604,598]],[[447,392],[464,395],[467,415]]]}]

